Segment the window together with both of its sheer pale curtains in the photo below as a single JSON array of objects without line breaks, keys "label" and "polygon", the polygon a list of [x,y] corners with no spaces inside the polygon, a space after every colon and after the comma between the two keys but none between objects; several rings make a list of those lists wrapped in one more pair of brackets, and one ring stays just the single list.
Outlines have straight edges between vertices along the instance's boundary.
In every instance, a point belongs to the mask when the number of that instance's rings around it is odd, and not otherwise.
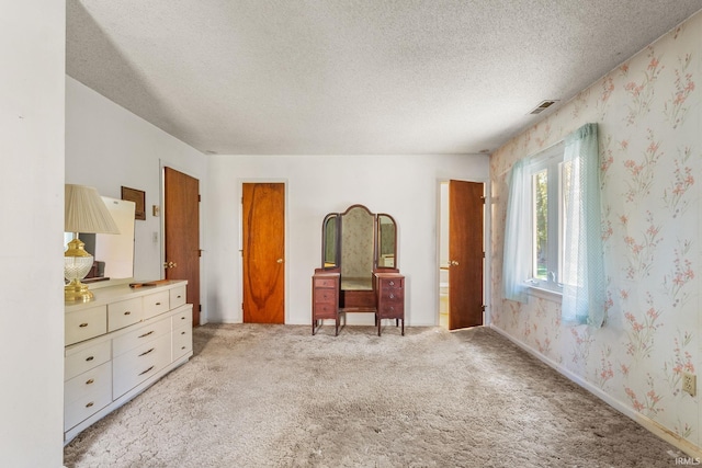
[{"label": "window together with both of its sheer pale curtains", "polygon": [[564,322],[601,327],[605,281],[597,124],[512,164],[505,219],[505,298],[530,287],[563,295]]}]

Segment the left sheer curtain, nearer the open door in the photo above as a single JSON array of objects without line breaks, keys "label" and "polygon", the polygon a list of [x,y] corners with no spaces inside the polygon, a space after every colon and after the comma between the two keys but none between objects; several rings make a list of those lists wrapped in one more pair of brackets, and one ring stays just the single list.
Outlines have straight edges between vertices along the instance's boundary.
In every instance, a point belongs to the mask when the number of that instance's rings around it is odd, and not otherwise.
[{"label": "left sheer curtain, nearer the open door", "polygon": [[502,288],[506,299],[526,303],[531,250],[531,193],[529,159],[512,165],[509,174],[509,196],[505,221],[505,249],[502,251]]}]

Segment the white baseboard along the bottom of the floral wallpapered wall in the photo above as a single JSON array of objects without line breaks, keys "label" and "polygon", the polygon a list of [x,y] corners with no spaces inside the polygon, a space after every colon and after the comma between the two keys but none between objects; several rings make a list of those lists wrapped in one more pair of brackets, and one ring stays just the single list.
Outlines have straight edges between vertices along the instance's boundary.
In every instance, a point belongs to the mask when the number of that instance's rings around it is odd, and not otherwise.
[{"label": "white baseboard along the bottom of the floral wallpapered wall", "polygon": [[609,404],[610,407],[614,408],[620,413],[629,416],[630,419],[632,419],[633,421],[635,421],[636,423],[642,425],[644,429],[648,430],[653,434],[655,434],[658,437],[663,438],[664,441],[666,441],[670,445],[673,445],[678,449],[684,452],[690,457],[702,459],[702,447],[698,447],[697,445],[692,444],[690,441],[688,441],[688,440],[686,440],[683,437],[680,437],[678,434],[673,433],[672,431],[670,431],[666,426],[661,425],[660,423],[658,423],[658,422],[652,420],[650,418],[639,413],[638,411],[635,411],[633,408],[624,404],[622,401],[613,398],[611,395],[605,393],[604,391],[602,391],[602,389],[600,389],[600,388],[593,386],[592,384],[590,384],[589,381],[582,379],[582,377],[580,377],[579,375],[574,374],[573,372],[568,370],[567,368],[561,366],[555,361],[550,359],[548,357],[546,357],[543,354],[539,353],[536,350],[528,346],[526,344],[522,343],[521,341],[516,340],[513,336],[508,334],[505,330],[500,329],[499,327],[496,327],[494,324],[489,324],[488,327],[491,328],[492,330],[495,330],[496,332],[498,332],[499,334],[501,334],[502,336],[505,336],[506,339],[508,339],[509,341],[511,341],[512,343],[514,343],[517,346],[521,347],[522,350],[524,350],[525,352],[531,354],[532,356],[536,357],[542,363],[544,363],[547,366],[550,366],[553,369],[555,369],[558,374],[562,374],[563,376],[565,376],[568,379],[573,380],[575,384],[577,384],[580,387],[585,388],[590,393],[595,395],[600,400],[604,401],[607,404]]}]

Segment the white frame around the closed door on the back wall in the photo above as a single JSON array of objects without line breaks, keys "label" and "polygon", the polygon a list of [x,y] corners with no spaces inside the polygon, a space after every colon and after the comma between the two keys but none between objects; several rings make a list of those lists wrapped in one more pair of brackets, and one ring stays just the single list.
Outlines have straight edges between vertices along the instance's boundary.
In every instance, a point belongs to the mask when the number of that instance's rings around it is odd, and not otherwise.
[{"label": "white frame around the closed door on the back wall", "polygon": [[288,180],[287,179],[281,179],[281,178],[242,178],[242,179],[237,179],[237,224],[238,224],[238,240],[237,240],[237,259],[238,259],[238,283],[237,283],[237,290],[239,294],[239,309],[238,309],[238,317],[239,317],[239,321],[240,323],[244,323],[244,255],[241,254],[241,252],[244,251],[244,184],[283,184],[283,195],[285,196],[285,203],[284,203],[284,214],[285,214],[285,221],[283,222],[283,227],[285,229],[285,232],[283,232],[283,237],[284,237],[284,246],[285,246],[285,256],[283,259],[283,269],[285,272],[285,281],[284,281],[284,285],[283,285],[283,289],[284,289],[284,295],[285,295],[285,300],[283,304],[283,324],[287,324],[290,323],[290,267],[288,267],[288,259],[291,256],[291,250],[290,250],[290,203],[288,203],[288,190],[290,190],[290,184],[288,184]]}]

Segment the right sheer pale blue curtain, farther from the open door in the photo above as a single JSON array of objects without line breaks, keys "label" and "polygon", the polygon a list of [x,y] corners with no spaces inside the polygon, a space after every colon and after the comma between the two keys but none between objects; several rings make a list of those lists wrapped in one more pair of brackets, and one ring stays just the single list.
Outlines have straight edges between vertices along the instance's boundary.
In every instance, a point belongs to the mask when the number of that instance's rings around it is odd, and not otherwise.
[{"label": "right sheer pale blue curtain, farther from the open door", "polygon": [[566,137],[564,167],[563,320],[601,327],[607,284],[597,124],[584,125]]}]

